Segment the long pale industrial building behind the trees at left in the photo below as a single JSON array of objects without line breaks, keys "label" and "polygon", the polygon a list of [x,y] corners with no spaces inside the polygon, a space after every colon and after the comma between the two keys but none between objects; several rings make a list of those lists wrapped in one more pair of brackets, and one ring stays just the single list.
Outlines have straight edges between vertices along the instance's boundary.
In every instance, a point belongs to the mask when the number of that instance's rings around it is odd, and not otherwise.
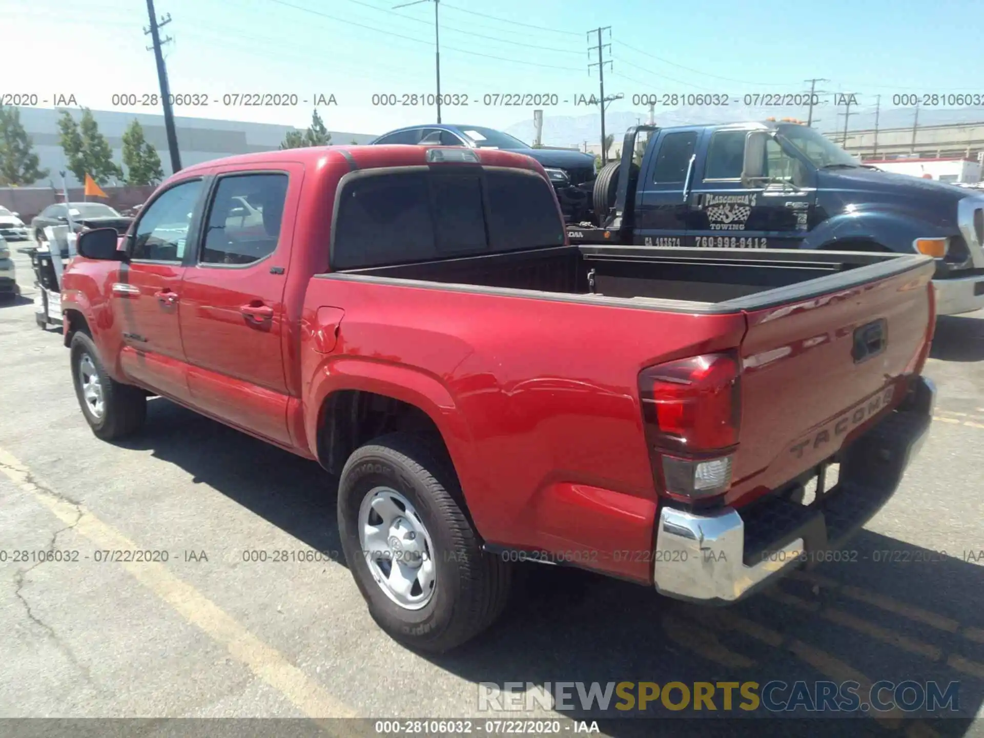
[{"label": "long pale industrial building behind the trees at left", "polygon": [[[61,186],[58,172],[65,170],[65,153],[59,143],[58,119],[61,111],[50,108],[21,107],[21,123],[24,125],[34,145],[34,153],[40,159],[42,169],[50,170],[49,178],[56,186]],[[78,121],[81,112],[71,110]],[[113,110],[92,110],[101,133],[113,150],[113,161],[122,165],[123,162],[123,132],[126,131],[136,118],[144,128],[144,137],[160,155],[160,166],[165,175],[171,174],[171,161],[167,150],[167,137],[164,133],[164,116],[148,113],[125,113]],[[331,119],[325,121],[331,125]],[[280,142],[288,131],[296,130],[293,126],[280,126],[269,123],[247,123],[238,120],[211,120],[208,118],[174,118],[177,131],[178,151],[181,154],[181,165],[209,161],[222,156],[233,154],[251,154],[267,152],[279,148]],[[331,131],[332,142],[336,144],[366,144],[375,138],[375,134],[350,133],[347,131]],[[70,187],[82,184],[76,181],[71,172],[66,172]],[[35,183],[47,185],[47,181]]]}]

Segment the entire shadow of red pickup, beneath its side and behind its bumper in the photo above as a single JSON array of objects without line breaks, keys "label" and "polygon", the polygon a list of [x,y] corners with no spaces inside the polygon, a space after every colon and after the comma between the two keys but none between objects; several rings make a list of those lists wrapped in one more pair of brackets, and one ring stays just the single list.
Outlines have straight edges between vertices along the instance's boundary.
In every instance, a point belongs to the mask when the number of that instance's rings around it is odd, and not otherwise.
[{"label": "entire shadow of red pickup, beneath its side and behind its bumper", "polygon": [[[166,400],[151,400],[149,421],[127,448],[180,466],[316,550],[340,549],[337,481],[316,463]],[[764,707],[739,709],[737,691],[731,711],[720,691],[712,696],[714,712],[696,711],[693,700],[671,710],[659,699],[645,713],[623,712],[614,709],[621,702],[615,695],[603,713],[565,711],[601,720],[604,732],[618,738],[967,734],[966,716],[984,705],[984,544],[955,541],[953,550],[935,552],[862,530],[842,558],[724,608],[669,600],[649,587],[577,569],[526,564],[498,623],[451,653],[427,658],[473,684],[461,699],[474,707],[481,683],[584,682],[587,688],[597,682],[604,689],[609,682],[681,682],[693,689],[696,682],[802,680],[814,690],[818,682],[853,680],[866,702],[879,680],[911,680],[923,689],[936,682],[942,693],[958,682],[956,711],[896,713],[901,719],[894,721],[892,713],[874,719],[874,711],[849,724],[817,717],[830,712],[803,718],[803,710],[793,715],[801,719],[774,719]],[[569,694],[577,702],[576,687]],[[683,693],[672,694],[670,704],[679,704]],[[781,701],[789,691],[775,694]],[[891,690],[882,696],[891,699]],[[618,719],[606,719],[612,717]]]}]

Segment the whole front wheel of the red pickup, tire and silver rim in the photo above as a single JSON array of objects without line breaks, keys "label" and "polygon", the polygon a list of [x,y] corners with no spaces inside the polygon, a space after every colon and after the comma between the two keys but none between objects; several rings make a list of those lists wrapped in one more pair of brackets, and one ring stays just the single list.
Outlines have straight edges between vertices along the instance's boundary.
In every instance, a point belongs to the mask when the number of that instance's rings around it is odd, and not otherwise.
[{"label": "whole front wheel of the red pickup, tire and silver rim", "polygon": [[143,427],[147,419],[144,391],[106,374],[95,343],[81,331],[72,337],[71,364],[76,397],[96,438],[113,441]]}]

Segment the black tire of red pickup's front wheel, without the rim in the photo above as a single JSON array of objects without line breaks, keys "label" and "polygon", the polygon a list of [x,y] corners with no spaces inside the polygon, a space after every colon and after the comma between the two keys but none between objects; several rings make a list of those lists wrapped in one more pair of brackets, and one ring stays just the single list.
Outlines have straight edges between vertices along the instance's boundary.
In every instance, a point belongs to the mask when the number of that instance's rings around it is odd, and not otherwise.
[{"label": "black tire of red pickup's front wheel, without the rim", "polygon": [[[79,366],[83,358],[88,356],[95,367],[102,390],[103,410],[101,416],[93,414],[85,400]],[[71,345],[72,384],[75,395],[82,408],[82,414],[92,428],[96,438],[103,441],[115,441],[140,430],[147,420],[147,396],[144,391],[132,385],[123,385],[106,374],[95,343],[88,334],[76,332]]]}]

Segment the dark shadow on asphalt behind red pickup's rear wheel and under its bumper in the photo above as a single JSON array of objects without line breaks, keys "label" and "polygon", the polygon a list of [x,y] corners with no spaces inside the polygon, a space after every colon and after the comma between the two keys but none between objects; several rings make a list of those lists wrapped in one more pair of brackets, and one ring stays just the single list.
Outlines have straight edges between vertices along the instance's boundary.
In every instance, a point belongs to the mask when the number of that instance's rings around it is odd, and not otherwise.
[{"label": "dark shadow on asphalt behind red pickup's rear wheel and under its bumper", "polygon": [[[482,682],[500,687],[584,682],[586,689],[591,682],[604,688],[609,682],[675,681],[693,689],[695,682],[804,680],[813,690],[819,681],[855,680],[862,685],[862,702],[865,685],[879,680],[896,685],[913,680],[921,688],[935,681],[944,692],[958,682],[958,711],[899,712],[904,719],[897,724],[864,715],[847,725],[817,719],[819,712],[812,719],[764,721],[756,718],[789,715],[763,707],[743,711],[737,692],[728,712],[717,691],[715,713],[695,711],[692,700],[678,711],[656,700],[646,716],[663,719],[624,718],[605,730],[616,736],[706,735],[708,729],[730,735],[734,730],[768,735],[773,729],[784,735],[964,735],[967,716],[984,703],[984,567],[975,563],[984,562],[984,551],[954,544],[944,554],[863,530],[845,553],[850,560],[797,572],[723,608],[665,599],[647,587],[573,569],[529,564],[499,623],[483,638],[431,660],[476,684],[476,707]],[[576,688],[571,694],[578,707]],[[670,704],[682,699],[683,693],[674,691]],[[620,713],[613,708],[618,703],[613,696],[606,717],[640,717],[635,709]],[[578,707],[569,714],[587,719],[601,713]],[[800,709],[795,716],[807,714]]]}]

